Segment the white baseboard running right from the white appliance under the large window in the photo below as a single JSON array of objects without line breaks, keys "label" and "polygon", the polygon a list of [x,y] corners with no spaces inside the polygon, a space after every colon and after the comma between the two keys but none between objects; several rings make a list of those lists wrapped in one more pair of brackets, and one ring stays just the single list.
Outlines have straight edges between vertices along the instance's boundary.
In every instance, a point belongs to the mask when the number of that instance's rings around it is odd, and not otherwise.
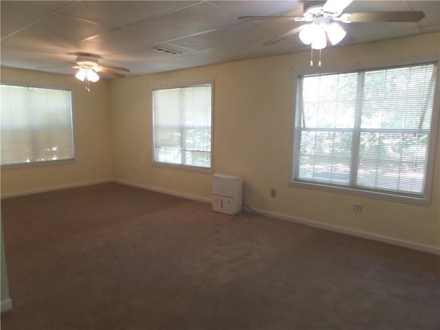
[{"label": "white baseboard running right from the white appliance under the large window", "polygon": [[428,252],[432,254],[440,255],[440,249],[433,245],[425,245],[420,243],[415,243],[411,241],[404,241],[403,239],[394,239],[390,236],[384,236],[380,234],[373,234],[371,232],[362,232],[360,230],[354,230],[349,228],[340,227],[339,225],[331,225],[329,223],[322,223],[319,221],[313,221],[309,219],[303,219],[298,217],[292,217],[291,215],[276,213],[266,210],[253,209],[255,212],[263,214],[267,217],[272,217],[276,219],[283,219],[287,221],[292,221],[294,223],[300,223],[302,225],[308,225],[314,228],[320,228],[324,230],[330,230],[331,232],[340,232],[341,234],[348,234],[351,236],[362,237],[362,239],[371,239],[372,241],[380,241],[382,243],[388,243],[393,245],[398,245],[404,248],[417,250],[421,252]]}]

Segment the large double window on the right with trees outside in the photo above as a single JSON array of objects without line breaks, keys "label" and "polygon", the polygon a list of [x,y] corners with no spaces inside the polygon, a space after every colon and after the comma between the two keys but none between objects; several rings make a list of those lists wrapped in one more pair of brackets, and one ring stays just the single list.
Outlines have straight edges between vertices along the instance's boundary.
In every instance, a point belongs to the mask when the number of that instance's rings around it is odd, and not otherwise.
[{"label": "large double window on the right with trees outside", "polygon": [[299,76],[292,185],[428,203],[436,80],[433,63]]}]

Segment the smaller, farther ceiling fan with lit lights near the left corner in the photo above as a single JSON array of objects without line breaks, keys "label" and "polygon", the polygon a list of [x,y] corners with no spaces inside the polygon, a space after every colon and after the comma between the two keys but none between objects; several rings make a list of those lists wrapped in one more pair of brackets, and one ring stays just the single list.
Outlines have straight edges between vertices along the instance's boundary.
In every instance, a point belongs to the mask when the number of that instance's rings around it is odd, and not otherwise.
[{"label": "smaller, farther ceiling fan with lit lights near the left corner", "polygon": [[99,56],[94,56],[93,54],[80,54],[80,56],[76,58],[76,63],[72,63],[74,64],[73,68],[78,69],[75,77],[78,80],[85,81],[85,89],[87,91],[90,91],[89,82],[96,83],[96,81],[99,80],[100,76],[98,75],[98,72],[108,74],[109,76],[122,78],[124,75],[120,74],[118,71],[130,71],[125,67],[109,67],[107,65],[100,65],[98,63],[98,57]]}]

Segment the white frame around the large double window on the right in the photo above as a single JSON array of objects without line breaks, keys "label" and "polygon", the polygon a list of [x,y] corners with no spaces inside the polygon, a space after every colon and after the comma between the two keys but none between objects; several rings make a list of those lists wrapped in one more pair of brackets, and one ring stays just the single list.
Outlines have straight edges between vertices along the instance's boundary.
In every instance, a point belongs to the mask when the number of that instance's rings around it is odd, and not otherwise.
[{"label": "white frame around the large double window on the right", "polygon": [[[298,115],[297,102],[298,102],[298,77],[299,76],[311,76],[311,75],[319,75],[319,74],[349,74],[349,73],[357,73],[364,72],[369,70],[376,69],[391,69],[397,67],[408,67],[412,65],[428,65],[435,64],[437,65],[437,77],[435,80],[435,89],[434,89],[434,102],[432,107],[432,118],[431,118],[431,126],[430,126],[430,141],[428,144],[428,157],[426,162],[426,176],[424,181],[424,190],[423,197],[411,196],[408,195],[398,195],[393,194],[392,192],[385,192],[380,190],[368,189],[368,188],[353,188],[351,186],[336,186],[329,185],[325,183],[319,182],[309,182],[309,181],[297,181],[295,164],[298,161],[299,157],[299,148],[300,141],[298,139],[298,135],[300,131],[297,130],[296,126],[296,117]],[[359,66],[359,67],[347,67],[345,69],[332,69],[332,68],[320,68],[320,72],[294,72],[292,76],[293,80],[293,88],[292,88],[292,136],[291,143],[289,144],[289,173],[288,173],[288,183],[287,185],[290,187],[296,188],[307,188],[311,190],[320,190],[325,192],[336,192],[342,193],[345,195],[353,195],[360,197],[370,197],[375,199],[383,199],[388,201],[397,201],[401,203],[410,203],[421,206],[429,206],[431,202],[432,195],[432,186],[434,180],[434,166],[437,158],[437,140],[439,139],[439,124],[440,124],[440,63],[439,58],[423,58],[422,61],[417,61],[417,58],[412,61],[402,61],[400,63],[385,63],[380,66]]]}]

